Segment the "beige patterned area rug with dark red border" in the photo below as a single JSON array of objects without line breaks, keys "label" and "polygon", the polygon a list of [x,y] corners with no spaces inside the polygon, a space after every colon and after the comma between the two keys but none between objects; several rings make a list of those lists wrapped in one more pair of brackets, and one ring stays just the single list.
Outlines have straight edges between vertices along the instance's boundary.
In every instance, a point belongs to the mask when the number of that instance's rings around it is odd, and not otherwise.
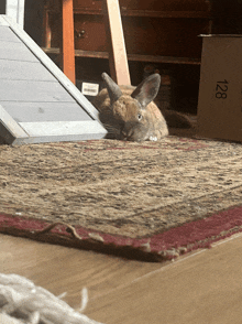
[{"label": "beige patterned area rug with dark red border", "polygon": [[242,230],[242,145],[0,145],[0,231],[160,261]]}]

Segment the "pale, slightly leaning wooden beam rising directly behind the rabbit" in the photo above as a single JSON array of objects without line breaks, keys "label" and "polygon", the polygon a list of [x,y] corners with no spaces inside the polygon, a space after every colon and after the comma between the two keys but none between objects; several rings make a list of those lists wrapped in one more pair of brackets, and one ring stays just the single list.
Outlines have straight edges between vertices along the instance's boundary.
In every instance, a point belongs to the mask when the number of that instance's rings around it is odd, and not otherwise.
[{"label": "pale, slightly leaning wooden beam rising directly behind the rabbit", "polygon": [[118,85],[130,85],[130,73],[118,0],[103,0],[103,14],[109,42],[109,65]]}]

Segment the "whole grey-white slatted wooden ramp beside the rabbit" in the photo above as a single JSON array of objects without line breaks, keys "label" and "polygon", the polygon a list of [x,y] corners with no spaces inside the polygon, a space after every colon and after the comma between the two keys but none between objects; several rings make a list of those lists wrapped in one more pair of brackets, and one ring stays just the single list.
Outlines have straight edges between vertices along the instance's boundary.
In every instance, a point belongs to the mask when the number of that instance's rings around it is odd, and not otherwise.
[{"label": "whole grey-white slatted wooden ramp beside the rabbit", "polygon": [[24,144],[106,133],[97,109],[16,23],[0,15],[0,138]]}]

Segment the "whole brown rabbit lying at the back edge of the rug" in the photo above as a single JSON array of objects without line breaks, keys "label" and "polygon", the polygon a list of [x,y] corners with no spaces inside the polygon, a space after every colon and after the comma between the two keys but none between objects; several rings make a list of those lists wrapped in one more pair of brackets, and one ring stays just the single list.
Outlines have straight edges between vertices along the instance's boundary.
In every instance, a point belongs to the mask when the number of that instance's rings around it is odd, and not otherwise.
[{"label": "whole brown rabbit lying at the back edge of the rug", "polygon": [[107,88],[94,100],[100,121],[109,138],[129,141],[158,141],[168,136],[166,121],[153,102],[161,84],[161,76],[153,74],[136,88],[118,86],[108,74],[102,78]]}]

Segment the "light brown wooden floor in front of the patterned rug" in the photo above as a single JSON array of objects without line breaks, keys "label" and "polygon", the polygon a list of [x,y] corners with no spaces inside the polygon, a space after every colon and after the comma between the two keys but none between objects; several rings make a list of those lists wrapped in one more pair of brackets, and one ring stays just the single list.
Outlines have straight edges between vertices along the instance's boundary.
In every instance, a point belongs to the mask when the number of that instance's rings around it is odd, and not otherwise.
[{"label": "light brown wooden floor in front of the patterned rug", "polygon": [[[221,244],[222,242],[222,244]],[[242,318],[242,235],[175,262],[145,263],[0,235],[0,272],[18,273],[107,324],[223,324]]]}]

